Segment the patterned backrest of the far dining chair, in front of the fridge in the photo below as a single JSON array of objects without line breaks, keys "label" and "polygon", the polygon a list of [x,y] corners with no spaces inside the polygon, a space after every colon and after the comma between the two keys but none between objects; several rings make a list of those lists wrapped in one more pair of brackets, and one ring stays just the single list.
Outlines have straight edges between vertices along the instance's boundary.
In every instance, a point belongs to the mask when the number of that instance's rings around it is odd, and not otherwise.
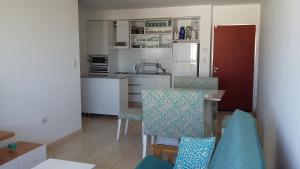
[{"label": "patterned backrest of the far dining chair, in front of the fridge", "polygon": [[175,76],[174,88],[218,90],[219,80],[215,77]]}]

